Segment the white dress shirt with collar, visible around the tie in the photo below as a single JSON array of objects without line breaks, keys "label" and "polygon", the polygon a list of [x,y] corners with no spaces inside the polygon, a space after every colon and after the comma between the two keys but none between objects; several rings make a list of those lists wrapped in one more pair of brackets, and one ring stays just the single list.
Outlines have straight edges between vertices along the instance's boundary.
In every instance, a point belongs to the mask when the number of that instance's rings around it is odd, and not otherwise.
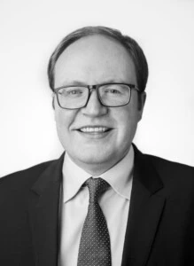
[{"label": "white dress shirt with collar, visible around the tie", "polygon": [[[120,266],[126,227],[128,208],[132,188],[132,169],[134,150],[113,168],[100,176],[111,185],[99,199],[99,205],[105,215],[111,241],[112,266]],[[91,175],[78,167],[66,153],[63,164],[63,190],[61,202],[61,231],[58,253],[58,266],[76,266],[81,239],[81,230],[88,213],[89,189],[81,185]]]}]

